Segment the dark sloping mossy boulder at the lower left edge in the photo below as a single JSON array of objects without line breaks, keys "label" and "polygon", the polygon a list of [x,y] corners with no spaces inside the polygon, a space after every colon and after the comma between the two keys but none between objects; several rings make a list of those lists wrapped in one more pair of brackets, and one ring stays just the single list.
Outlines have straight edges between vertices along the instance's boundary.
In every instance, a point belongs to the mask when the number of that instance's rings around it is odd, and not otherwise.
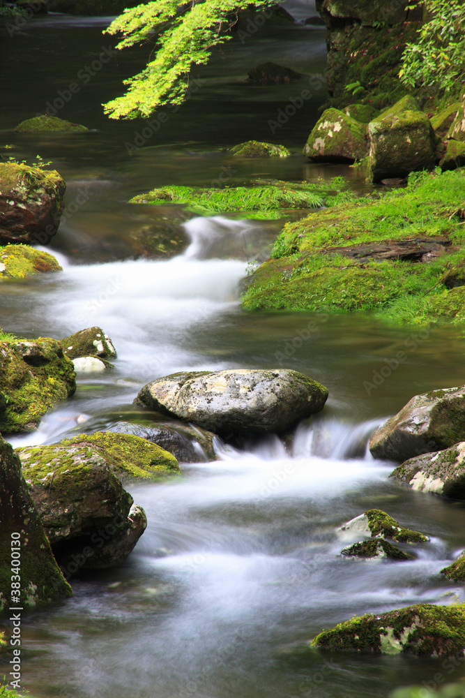
[{"label": "dark sloping mossy boulder at the lower left edge", "polygon": [[[0,502],[0,614],[16,604],[34,607],[72,596],[22,477],[20,459],[2,438]],[[20,584],[13,588],[15,574]]]}]

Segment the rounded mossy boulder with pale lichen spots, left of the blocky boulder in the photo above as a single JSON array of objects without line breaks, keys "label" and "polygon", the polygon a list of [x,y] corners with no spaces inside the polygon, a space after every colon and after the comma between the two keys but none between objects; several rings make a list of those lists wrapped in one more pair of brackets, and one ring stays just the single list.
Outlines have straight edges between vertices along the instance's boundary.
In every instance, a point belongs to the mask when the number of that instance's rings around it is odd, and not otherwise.
[{"label": "rounded mossy boulder with pale lichen spots, left of the blocky boulder", "polygon": [[314,162],[353,163],[367,153],[367,125],[333,108],[323,112],[303,149]]}]

